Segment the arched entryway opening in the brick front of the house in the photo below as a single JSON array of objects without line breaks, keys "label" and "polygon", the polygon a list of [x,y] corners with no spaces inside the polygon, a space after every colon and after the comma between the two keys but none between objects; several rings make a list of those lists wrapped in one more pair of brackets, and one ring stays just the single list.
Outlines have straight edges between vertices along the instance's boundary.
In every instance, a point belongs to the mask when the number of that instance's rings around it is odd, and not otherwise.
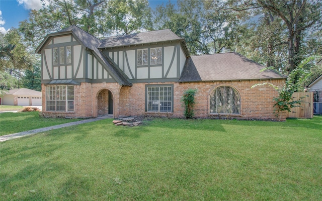
[{"label": "arched entryway opening in the brick front of the house", "polygon": [[108,89],[102,89],[97,96],[97,116],[113,115],[113,94]]}]

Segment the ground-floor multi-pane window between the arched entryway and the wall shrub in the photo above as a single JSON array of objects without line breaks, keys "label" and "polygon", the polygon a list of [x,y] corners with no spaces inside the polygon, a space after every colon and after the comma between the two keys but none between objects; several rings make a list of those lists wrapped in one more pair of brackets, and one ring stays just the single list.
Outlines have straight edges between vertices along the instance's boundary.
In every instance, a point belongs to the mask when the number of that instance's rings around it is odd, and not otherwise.
[{"label": "ground-floor multi-pane window between the arched entryway and the wall shrub", "polygon": [[173,112],[173,85],[146,86],[147,112]]}]

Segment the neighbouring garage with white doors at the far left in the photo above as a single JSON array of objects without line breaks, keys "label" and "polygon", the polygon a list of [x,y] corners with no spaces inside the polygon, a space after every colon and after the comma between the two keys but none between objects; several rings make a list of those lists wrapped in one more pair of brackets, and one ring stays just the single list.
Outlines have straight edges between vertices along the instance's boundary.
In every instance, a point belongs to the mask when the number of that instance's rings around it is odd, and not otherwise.
[{"label": "neighbouring garage with white doors at the far left", "polygon": [[1,98],[1,105],[41,106],[41,92],[28,88],[12,89]]}]

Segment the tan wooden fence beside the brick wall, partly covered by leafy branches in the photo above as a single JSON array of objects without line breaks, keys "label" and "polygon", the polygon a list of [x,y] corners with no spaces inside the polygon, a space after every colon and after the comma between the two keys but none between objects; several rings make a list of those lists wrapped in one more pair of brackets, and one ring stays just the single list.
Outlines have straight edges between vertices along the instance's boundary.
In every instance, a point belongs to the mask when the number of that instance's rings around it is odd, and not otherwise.
[{"label": "tan wooden fence beside the brick wall, partly covered by leafy branches", "polygon": [[301,105],[291,108],[286,118],[313,118],[313,92],[294,92],[293,100],[299,99],[302,100]]}]

